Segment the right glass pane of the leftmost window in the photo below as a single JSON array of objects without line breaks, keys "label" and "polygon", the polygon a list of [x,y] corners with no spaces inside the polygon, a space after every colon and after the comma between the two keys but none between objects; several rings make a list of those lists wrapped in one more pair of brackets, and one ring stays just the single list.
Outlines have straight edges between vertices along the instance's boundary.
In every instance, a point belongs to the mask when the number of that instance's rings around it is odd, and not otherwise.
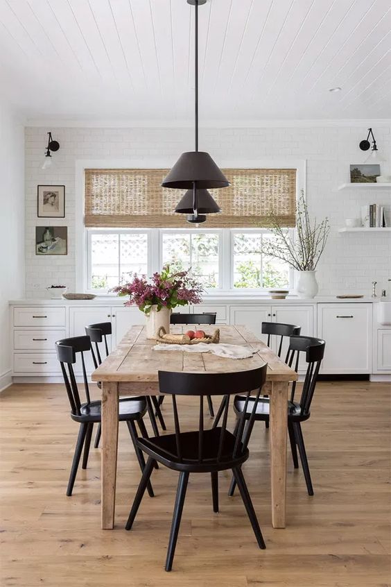
[{"label": "right glass pane of the leftmost window", "polygon": [[145,232],[120,234],[120,282],[129,281],[133,273],[148,273],[148,235]]}]

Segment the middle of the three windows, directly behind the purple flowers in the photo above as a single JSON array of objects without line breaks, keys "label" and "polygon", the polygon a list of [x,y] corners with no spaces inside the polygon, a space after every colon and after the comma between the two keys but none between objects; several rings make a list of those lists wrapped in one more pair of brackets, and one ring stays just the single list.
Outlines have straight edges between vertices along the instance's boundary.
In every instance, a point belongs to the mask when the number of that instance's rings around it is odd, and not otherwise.
[{"label": "middle of the three windows, directly behind the purple flowers", "polygon": [[162,265],[189,269],[203,287],[220,287],[220,235],[216,232],[163,232]]}]

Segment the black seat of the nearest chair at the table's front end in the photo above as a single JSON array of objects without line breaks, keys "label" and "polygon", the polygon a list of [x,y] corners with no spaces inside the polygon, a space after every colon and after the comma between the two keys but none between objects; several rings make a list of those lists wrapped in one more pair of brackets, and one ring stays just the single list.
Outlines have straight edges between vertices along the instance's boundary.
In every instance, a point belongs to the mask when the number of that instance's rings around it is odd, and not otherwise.
[{"label": "black seat of the nearest chair at the table's front end", "polygon": [[150,457],[159,461],[168,468],[189,473],[207,473],[236,467],[248,458],[246,449],[239,457],[232,458],[235,445],[235,436],[225,430],[223,434],[223,448],[220,459],[217,459],[220,443],[221,428],[205,430],[203,434],[202,462],[198,461],[198,430],[195,432],[180,433],[180,447],[182,460],[177,457],[177,443],[175,434],[155,436],[150,439],[137,439],[137,444]]}]

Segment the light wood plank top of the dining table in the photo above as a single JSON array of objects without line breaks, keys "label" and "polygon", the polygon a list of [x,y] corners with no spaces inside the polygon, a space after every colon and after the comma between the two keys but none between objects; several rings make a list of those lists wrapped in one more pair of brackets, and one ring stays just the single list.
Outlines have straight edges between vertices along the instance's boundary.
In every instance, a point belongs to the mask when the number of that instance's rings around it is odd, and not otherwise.
[{"label": "light wood plank top of the dining table", "polygon": [[[194,325],[192,325],[194,327]],[[234,373],[248,371],[268,363],[266,380],[295,381],[297,373],[279,359],[265,343],[244,326],[202,325],[211,334],[220,328],[220,342],[250,346],[257,352],[248,359],[226,359],[211,352],[184,352],[180,350],[153,350],[156,342],[146,338],[144,326],[132,326],[116,349],[92,373],[93,381],[157,382],[158,371],[185,373]],[[187,330],[187,325],[171,327],[171,332]]]}]

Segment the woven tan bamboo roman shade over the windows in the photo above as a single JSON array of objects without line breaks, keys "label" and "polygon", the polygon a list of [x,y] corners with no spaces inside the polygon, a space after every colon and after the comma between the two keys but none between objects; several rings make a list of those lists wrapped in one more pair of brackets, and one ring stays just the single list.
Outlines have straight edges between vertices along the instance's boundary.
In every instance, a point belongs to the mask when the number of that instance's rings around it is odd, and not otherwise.
[{"label": "woven tan bamboo roman shade over the windows", "polygon": [[[85,226],[186,228],[173,212],[184,192],[161,187],[168,169],[86,169]],[[222,212],[209,214],[208,228],[268,226],[274,211],[282,226],[295,226],[295,169],[223,169],[231,183],[210,190]]]}]

